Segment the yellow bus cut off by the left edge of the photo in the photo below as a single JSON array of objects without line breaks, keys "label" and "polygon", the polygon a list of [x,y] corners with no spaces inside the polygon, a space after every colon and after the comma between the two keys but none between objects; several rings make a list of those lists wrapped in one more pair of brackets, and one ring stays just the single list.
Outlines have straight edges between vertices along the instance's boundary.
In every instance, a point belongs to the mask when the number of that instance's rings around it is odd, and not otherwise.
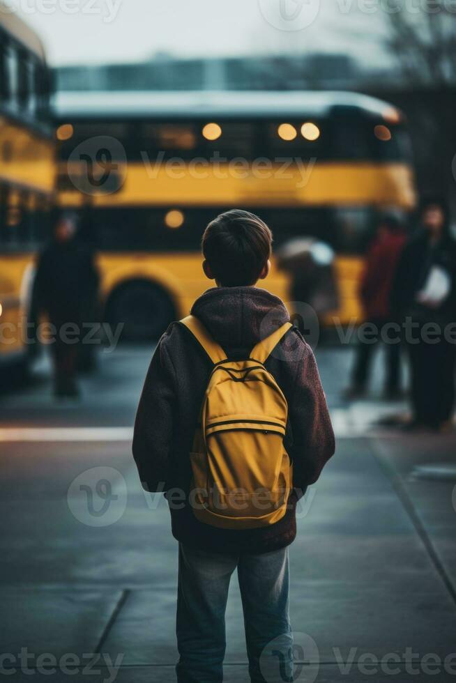
[{"label": "yellow bus cut off by the left edge of the photo", "polygon": [[[54,204],[50,72],[43,45],[0,2],[0,364],[25,360],[33,256]],[[0,367],[1,370],[1,367]]]}]

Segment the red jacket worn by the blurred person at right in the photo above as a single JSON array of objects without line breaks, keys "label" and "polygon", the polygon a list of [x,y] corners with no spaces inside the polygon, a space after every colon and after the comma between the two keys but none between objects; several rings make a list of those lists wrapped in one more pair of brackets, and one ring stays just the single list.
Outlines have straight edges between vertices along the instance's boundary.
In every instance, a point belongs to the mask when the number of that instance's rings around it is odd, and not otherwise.
[{"label": "red jacket worn by the blurred person at right", "polygon": [[404,244],[405,233],[388,233],[374,240],[367,252],[360,283],[360,299],[367,319],[388,319],[391,315],[390,293]]}]

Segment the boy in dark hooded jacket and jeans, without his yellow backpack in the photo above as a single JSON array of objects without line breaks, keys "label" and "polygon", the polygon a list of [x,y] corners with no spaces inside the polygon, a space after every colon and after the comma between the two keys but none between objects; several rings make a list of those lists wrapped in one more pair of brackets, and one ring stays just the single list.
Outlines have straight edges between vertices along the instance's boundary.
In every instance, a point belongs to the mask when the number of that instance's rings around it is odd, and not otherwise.
[{"label": "boy in dark hooded jacket and jeans, without his yellow backpack", "polygon": [[[230,360],[249,358],[258,342],[289,321],[282,301],[255,286],[269,273],[271,243],[266,224],[243,210],[223,213],[204,232],[203,269],[217,286],[195,301],[191,313]],[[260,657],[273,640],[280,642],[280,663],[288,671],[292,666],[287,546],[296,536],[296,501],[317,480],[335,443],[314,355],[296,328],[264,367],[287,399],[284,443],[295,489],[284,516],[261,528],[216,528],[199,521],[190,505],[192,438],[213,363],[182,323],[172,323],[160,339],[139,402],[133,440],[139,476],[147,491],[167,491],[179,542],[179,682],[222,681],[225,606],[236,567],[251,680],[265,680]],[[173,504],[176,491],[185,492],[180,505]]]}]

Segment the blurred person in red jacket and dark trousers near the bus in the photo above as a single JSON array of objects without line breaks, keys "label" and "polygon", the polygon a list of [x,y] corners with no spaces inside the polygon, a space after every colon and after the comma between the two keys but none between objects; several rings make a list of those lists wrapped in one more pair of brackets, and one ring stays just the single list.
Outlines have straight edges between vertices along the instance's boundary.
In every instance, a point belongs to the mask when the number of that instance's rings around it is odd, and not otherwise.
[{"label": "blurred person in red jacket and dark trousers near the bus", "polygon": [[[386,335],[385,325],[393,321],[390,293],[405,241],[406,234],[400,220],[393,215],[381,217],[377,226],[377,235],[367,253],[359,290],[365,321],[372,323],[377,328],[378,334],[375,339],[369,338],[368,341],[360,341],[358,344],[349,397],[365,393],[372,352],[377,342],[382,339],[386,342],[385,394],[388,398],[395,398],[400,394],[400,340],[397,334]],[[382,334],[382,330],[385,334]]]}]

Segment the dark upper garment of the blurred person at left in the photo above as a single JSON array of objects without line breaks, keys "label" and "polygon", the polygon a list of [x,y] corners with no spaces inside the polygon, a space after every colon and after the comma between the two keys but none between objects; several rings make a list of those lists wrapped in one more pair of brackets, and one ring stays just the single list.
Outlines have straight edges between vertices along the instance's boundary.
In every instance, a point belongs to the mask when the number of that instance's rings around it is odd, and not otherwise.
[{"label": "dark upper garment of the blurred person at left", "polygon": [[77,240],[52,242],[38,259],[33,309],[51,319],[78,323],[98,289],[93,253]]}]

